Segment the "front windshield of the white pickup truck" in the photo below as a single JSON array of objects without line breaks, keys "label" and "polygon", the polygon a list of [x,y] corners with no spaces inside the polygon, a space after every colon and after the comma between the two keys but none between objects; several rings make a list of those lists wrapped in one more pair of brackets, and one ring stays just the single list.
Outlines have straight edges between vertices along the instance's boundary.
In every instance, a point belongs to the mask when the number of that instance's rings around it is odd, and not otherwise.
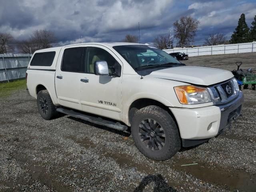
[{"label": "front windshield of the white pickup truck", "polygon": [[162,64],[181,64],[168,53],[154,46],[122,45],[114,46],[116,50],[134,69],[143,66],[159,66]]}]

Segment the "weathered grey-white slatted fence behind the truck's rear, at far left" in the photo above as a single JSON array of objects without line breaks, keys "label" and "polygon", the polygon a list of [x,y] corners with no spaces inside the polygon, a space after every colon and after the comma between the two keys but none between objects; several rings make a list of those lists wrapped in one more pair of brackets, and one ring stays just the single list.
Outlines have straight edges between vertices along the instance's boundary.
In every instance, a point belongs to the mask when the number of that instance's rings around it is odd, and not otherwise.
[{"label": "weathered grey-white slatted fence behind the truck's rear, at far left", "polygon": [[0,82],[24,78],[31,54],[0,54]]}]

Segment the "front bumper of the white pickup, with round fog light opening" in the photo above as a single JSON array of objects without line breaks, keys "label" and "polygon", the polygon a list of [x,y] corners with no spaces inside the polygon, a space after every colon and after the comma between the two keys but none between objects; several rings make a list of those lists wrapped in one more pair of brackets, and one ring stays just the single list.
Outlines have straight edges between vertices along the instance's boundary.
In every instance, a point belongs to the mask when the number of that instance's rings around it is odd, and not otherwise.
[{"label": "front bumper of the white pickup, with round fog light opening", "polygon": [[[228,128],[240,116],[244,95],[239,95],[226,104],[202,108],[170,108],[179,126],[180,136],[184,143],[189,140],[192,146],[205,142]],[[198,144],[199,144],[198,143]]]}]

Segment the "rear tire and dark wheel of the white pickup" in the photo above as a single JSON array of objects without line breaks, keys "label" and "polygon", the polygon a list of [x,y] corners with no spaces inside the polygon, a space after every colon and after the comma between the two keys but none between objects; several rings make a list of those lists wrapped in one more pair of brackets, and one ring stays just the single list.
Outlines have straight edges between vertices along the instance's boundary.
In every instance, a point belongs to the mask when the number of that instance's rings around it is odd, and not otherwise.
[{"label": "rear tire and dark wheel of the white pickup", "polygon": [[45,120],[50,120],[58,114],[56,106],[53,104],[51,96],[47,90],[38,92],[37,107],[38,112]]}]

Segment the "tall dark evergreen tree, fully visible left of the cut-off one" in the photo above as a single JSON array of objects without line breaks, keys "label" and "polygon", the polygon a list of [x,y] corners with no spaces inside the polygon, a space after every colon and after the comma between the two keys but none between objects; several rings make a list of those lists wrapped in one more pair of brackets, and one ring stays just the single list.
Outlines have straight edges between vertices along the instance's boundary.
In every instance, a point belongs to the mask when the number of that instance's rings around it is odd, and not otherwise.
[{"label": "tall dark evergreen tree, fully visible left of the cut-off one", "polygon": [[250,29],[245,22],[245,15],[242,13],[238,20],[238,26],[231,36],[230,42],[234,43],[247,43],[250,41]]}]

